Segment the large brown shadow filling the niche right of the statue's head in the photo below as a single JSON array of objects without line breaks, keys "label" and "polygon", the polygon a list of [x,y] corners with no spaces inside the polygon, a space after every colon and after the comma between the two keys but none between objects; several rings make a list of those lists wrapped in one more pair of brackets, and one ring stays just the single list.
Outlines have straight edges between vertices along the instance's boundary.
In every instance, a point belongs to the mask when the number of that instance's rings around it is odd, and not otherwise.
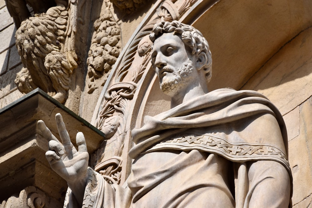
[{"label": "large brown shadow filling the niche right of the statue's head", "polygon": [[[212,52],[212,80],[209,89],[246,89],[246,83],[249,83],[252,77],[258,76],[258,71],[262,71],[264,66],[279,56],[283,57],[282,51],[290,46],[294,47],[291,49],[293,51],[284,56],[285,60],[282,60],[280,66],[276,66],[284,70],[278,75],[285,75],[285,68],[296,69],[296,64],[299,68],[304,61],[299,64],[298,58],[301,59],[303,54],[311,54],[311,50],[308,49],[311,43],[308,41],[307,29],[311,25],[310,1],[218,2],[193,23],[206,37]],[[306,37],[299,40],[301,36]],[[292,46],[295,41],[299,42]],[[305,55],[302,57],[302,60],[304,59],[309,60]],[[291,73],[293,75],[289,79],[294,80],[309,75],[310,71],[300,69],[300,73]],[[266,89],[287,81],[282,78],[279,82],[270,81],[266,85],[250,86],[248,89]]]}]

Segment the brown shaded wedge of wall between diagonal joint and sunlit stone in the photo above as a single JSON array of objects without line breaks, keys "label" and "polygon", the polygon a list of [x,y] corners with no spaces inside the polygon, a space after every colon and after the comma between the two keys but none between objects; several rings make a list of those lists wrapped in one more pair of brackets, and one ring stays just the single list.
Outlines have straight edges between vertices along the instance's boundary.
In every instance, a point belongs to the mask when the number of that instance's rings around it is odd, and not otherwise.
[{"label": "brown shaded wedge of wall between diagonal joint and sunlit stone", "polygon": [[[242,87],[264,90],[306,81],[312,73],[312,26],[300,31],[277,51]],[[310,79],[309,79],[310,80]]]}]

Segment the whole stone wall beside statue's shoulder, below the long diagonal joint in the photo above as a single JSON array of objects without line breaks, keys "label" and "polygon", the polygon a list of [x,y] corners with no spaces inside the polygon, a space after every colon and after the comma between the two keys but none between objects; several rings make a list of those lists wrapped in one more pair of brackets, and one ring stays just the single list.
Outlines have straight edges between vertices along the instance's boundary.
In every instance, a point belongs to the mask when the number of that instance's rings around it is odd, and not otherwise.
[{"label": "whole stone wall beside statue's shoulder, below the long diagonal joint", "polygon": [[300,31],[242,89],[265,94],[280,109],[288,133],[293,207],[312,201],[312,26]]}]

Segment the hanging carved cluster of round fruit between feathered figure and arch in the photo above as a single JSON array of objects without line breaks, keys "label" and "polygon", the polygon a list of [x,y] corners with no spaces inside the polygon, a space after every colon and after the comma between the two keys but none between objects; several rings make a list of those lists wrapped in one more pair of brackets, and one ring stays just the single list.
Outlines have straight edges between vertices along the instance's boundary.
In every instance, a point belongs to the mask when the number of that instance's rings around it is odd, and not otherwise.
[{"label": "hanging carved cluster of round fruit between feathered figure and arch", "polygon": [[99,87],[95,79],[109,75],[121,51],[120,27],[110,12],[110,3],[106,5],[105,14],[94,23],[95,33],[88,53],[89,94]]}]

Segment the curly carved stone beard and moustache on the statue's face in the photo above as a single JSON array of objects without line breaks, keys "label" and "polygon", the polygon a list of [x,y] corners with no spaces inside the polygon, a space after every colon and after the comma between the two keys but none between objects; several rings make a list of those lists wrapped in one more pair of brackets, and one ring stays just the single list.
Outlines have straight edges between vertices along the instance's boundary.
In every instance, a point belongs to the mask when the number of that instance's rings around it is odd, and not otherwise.
[{"label": "curly carved stone beard and moustache on the statue's face", "polygon": [[183,83],[187,82],[188,75],[192,73],[193,70],[196,70],[191,60],[186,61],[183,66],[178,69],[174,70],[170,66],[165,66],[164,69],[172,71],[172,75],[174,75],[174,77],[170,78],[164,76],[162,80],[159,80],[160,89],[165,94],[175,91],[175,89],[179,88],[179,85],[183,85]]}]

